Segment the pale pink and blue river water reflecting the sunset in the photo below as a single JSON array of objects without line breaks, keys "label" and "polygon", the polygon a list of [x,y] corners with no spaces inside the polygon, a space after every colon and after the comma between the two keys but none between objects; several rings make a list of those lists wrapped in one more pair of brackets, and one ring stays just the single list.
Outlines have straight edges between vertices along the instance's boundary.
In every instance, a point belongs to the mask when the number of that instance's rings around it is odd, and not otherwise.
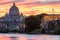
[{"label": "pale pink and blue river water reflecting the sunset", "polygon": [[1,34],[0,40],[60,40],[60,35]]}]

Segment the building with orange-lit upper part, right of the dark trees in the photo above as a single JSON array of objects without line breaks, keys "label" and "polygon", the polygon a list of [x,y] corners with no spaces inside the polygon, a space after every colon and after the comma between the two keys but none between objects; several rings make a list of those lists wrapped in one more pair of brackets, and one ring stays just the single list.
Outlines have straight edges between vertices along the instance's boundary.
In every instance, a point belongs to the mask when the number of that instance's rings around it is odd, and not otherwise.
[{"label": "building with orange-lit upper part, right of the dark trees", "polygon": [[43,18],[43,26],[46,32],[54,32],[57,23],[60,23],[60,14],[48,14]]}]

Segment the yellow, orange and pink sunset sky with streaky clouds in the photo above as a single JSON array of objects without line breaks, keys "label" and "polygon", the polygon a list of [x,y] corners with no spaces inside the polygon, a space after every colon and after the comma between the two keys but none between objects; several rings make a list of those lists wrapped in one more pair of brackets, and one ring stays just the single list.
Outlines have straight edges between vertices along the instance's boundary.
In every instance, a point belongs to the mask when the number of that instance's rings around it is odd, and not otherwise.
[{"label": "yellow, orange and pink sunset sky with streaky clouds", "polygon": [[0,17],[9,13],[13,2],[19,8],[20,13],[26,16],[41,13],[60,13],[60,0],[0,0]]}]

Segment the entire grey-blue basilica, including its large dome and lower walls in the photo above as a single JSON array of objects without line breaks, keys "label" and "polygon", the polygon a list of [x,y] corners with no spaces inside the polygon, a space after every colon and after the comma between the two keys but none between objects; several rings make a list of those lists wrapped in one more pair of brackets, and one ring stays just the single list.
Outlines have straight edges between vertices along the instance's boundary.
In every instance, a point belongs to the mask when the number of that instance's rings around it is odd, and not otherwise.
[{"label": "entire grey-blue basilica, including its large dome and lower walls", "polygon": [[24,22],[25,16],[22,13],[19,13],[19,9],[16,4],[13,3],[9,13],[6,13],[5,16],[0,18],[0,27],[7,28],[10,31],[22,30],[24,28]]}]

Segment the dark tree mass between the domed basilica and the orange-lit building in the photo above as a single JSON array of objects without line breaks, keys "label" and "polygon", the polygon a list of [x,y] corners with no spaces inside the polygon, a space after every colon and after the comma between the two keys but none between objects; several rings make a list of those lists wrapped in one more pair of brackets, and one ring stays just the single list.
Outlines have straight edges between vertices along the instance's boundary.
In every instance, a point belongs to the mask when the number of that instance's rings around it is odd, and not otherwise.
[{"label": "dark tree mass between the domed basilica and the orange-lit building", "polygon": [[36,16],[29,16],[25,19],[25,25],[26,25],[26,31],[31,32],[35,29],[40,28],[41,24],[41,19],[45,16],[46,14],[40,14]]}]

